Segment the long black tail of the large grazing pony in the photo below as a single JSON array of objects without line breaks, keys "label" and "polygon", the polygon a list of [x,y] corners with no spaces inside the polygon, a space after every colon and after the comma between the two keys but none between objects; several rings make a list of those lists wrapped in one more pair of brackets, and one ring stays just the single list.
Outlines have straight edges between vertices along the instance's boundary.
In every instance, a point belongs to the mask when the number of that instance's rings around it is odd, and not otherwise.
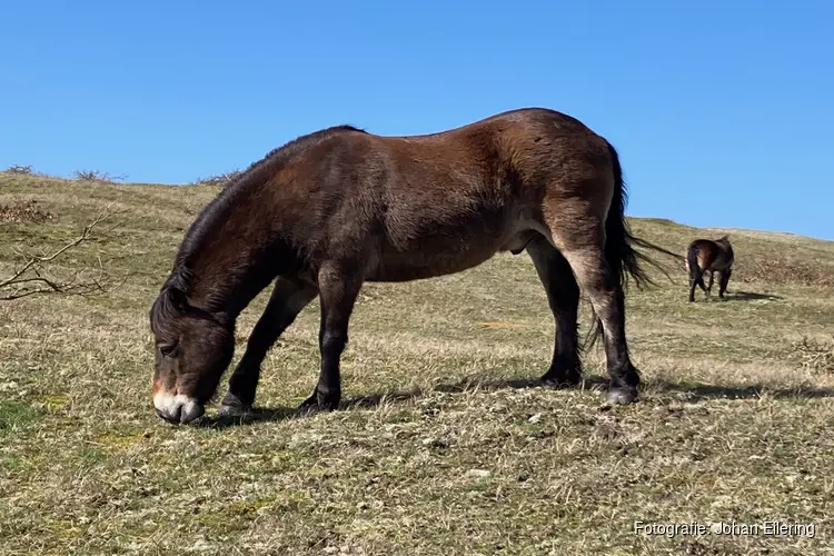
[{"label": "long black tail of the large grazing pony", "polygon": [[[637,251],[634,246],[655,249],[678,258],[681,256],[632,235],[632,231],[628,228],[628,222],[625,219],[628,191],[625,181],[623,180],[623,168],[619,166],[619,156],[612,143],[608,141],[606,141],[606,143],[608,145],[608,155],[610,156],[614,169],[614,197],[612,198],[610,207],[608,208],[608,217],[605,220],[605,258],[607,259],[609,271],[615,276],[617,284],[623,290],[627,287],[628,278],[632,278],[637,288],[642,289],[647,285],[654,284],[654,281],[648,277],[643,267],[641,267],[641,261],[646,261],[656,266],[663,270],[666,276],[668,276],[668,274],[657,262]],[[593,347],[596,339],[603,332],[603,324],[596,316],[596,312],[594,312],[593,307],[592,315],[595,325],[585,341],[586,347]]]}]

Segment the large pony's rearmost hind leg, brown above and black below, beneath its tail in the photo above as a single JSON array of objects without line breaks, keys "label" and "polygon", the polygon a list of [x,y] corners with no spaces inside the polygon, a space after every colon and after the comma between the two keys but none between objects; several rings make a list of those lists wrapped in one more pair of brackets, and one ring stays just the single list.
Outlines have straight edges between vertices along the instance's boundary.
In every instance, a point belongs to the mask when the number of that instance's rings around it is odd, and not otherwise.
[{"label": "large pony's rearmost hind leg, brown above and black below, beneath its tail", "polygon": [[554,219],[554,244],[565,256],[576,280],[602,322],[610,386],[608,401],[628,404],[637,398],[639,373],[632,364],[625,335],[625,294],[605,257],[605,232],[594,217]]}]

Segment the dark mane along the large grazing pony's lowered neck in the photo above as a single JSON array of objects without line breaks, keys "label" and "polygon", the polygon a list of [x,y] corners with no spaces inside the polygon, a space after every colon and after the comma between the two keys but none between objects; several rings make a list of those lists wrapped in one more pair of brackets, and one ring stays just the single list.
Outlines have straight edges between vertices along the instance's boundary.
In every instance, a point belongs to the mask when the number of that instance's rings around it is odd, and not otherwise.
[{"label": "dark mane along the large grazing pony's lowered neck", "polygon": [[187,291],[190,272],[188,270],[188,260],[191,254],[200,245],[200,240],[216,227],[217,222],[226,218],[230,210],[237,205],[250,187],[262,183],[269,176],[275,175],[281,165],[287,163],[304,149],[308,149],[320,141],[328,139],[338,133],[367,131],[353,126],[334,126],[319,131],[314,131],[300,136],[281,147],[272,149],[264,158],[252,162],[249,168],[235,177],[220,192],[203,207],[195,221],[186,231],[182,244],[176,257],[173,271],[166,281],[167,287],[175,287],[181,291]]}]

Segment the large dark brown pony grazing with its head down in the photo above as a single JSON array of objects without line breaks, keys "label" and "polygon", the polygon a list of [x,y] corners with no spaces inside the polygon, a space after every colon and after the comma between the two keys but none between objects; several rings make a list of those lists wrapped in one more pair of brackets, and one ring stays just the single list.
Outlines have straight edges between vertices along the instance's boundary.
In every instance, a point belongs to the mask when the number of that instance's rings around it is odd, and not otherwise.
[{"label": "large dark brown pony grazing with its head down", "polygon": [[203,414],[232,359],[238,315],[275,288],[229,378],[219,413],[251,408],[260,365],[319,297],[320,369],[306,408],[335,409],[339,359],[363,282],[430,278],[498,251],[527,251],[556,324],[545,384],[580,381],[579,288],[603,334],[607,399],[637,397],[626,344],[624,284],[648,280],[628,231],[617,152],[576,119],[519,109],[457,129],[380,137],[341,126],[300,137],[254,163],[186,232],[150,310],[158,415]]}]

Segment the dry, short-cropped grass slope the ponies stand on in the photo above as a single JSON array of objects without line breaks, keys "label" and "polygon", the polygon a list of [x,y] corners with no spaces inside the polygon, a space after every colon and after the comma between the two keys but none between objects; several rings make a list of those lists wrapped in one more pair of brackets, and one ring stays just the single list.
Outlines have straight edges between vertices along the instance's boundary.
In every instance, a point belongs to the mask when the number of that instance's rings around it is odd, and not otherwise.
[{"label": "dry, short-cropped grass slope the ponies stand on", "polygon": [[[97,298],[0,302],[0,553],[834,550],[834,242],[731,230],[724,301],[686,302],[679,262],[661,256],[675,284],[653,270],[658,286],[627,296],[645,381],[633,406],[602,406],[600,347],[583,388],[527,387],[549,364],[553,320],[529,258],[502,255],[367,285],[342,409],[292,415],[318,374],[314,301],[265,361],[257,419],[172,427],[150,399],[147,314],[217,190],[0,173],[0,206],[54,216],[0,219],[0,277],[18,250],[59,247],[108,206],[119,227],[62,264],[100,258],[128,276]],[[632,226],[676,252],[725,231]],[[267,295],[239,321],[236,360]],[[583,330],[587,317],[583,301]],[[635,534],[637,520],[737,534]],[[766,522],[813,536],[743,534]]]}]

